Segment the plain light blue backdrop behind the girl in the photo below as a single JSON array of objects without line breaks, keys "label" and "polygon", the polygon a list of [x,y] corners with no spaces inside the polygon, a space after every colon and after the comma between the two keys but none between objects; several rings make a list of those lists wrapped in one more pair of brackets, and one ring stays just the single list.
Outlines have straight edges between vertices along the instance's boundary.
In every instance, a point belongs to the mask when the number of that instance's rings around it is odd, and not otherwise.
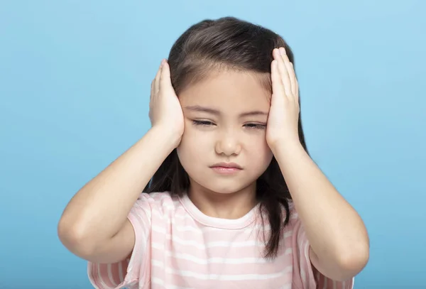
[{"label": "plain light blue backdrop behind the girl", "polygon": [[293,48],[308,148],[371,238],[355,288],[426,288],[425,11],[421,0],[1,1],[0,288],[91,288],[58,240],[60,214],[149,129],[151,80],[180,33],[221,16]]}]

